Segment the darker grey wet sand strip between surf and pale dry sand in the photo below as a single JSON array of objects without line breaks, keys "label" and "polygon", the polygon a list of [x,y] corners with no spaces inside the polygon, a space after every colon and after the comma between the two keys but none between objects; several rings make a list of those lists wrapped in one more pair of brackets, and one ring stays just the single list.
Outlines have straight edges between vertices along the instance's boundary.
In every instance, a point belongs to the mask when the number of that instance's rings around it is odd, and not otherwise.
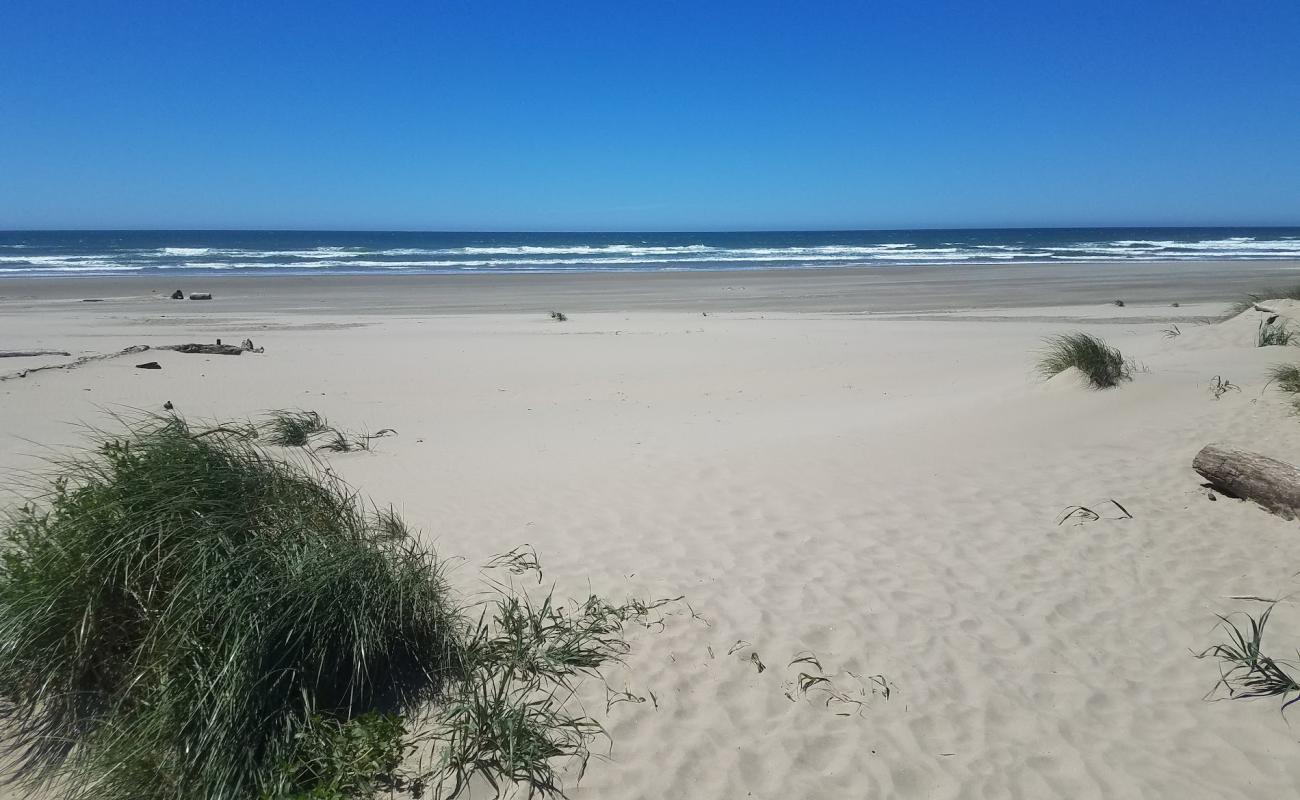
[{"label": "darker grey wet sand strip between surf and pale dry sand", "polygon": [[[1227,302],[1300,280],[1300,260],[829,267],[771,271],[113,276],[0,278],[0,312],[101,299],[153,308],[211,291],[187,312],[519,313],[619,311],[922,312],[1112,303]],[[170,300],[168,300],[170,303]]]}]

